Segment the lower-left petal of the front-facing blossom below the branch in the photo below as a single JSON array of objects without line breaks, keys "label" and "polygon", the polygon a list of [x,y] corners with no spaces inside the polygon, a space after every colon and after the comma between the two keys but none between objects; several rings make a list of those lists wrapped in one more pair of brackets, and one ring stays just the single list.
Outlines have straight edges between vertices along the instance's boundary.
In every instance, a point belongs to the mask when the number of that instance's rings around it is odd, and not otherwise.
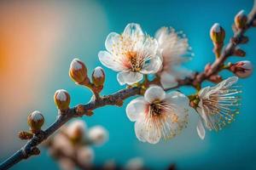
[{"label": "lower-left petal of the front-facing blossom below the branch", "polygon": [[139,139],[142,142],[146,142],[146,137],[147,137],[148,133],[146,130],[145,122],[143,122],[143,120],[139,120],[139,121],[135,122],[134,130],[135,130],[137,139]]}]

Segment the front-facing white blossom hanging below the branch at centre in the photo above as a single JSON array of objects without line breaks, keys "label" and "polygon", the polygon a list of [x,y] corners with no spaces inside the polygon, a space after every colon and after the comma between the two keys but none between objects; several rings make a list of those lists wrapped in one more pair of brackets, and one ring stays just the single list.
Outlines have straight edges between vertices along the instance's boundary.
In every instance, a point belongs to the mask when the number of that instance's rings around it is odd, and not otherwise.
[{"label": "front-facing white blossom hanging below the branch at centre", "polygon": [[188,122],[189,99],[179,92],[166,92],[153,86],[144,97],[131,100],[126,114],[135,122],[137,139],[156,144],[163,139],[171,139],[186,127]]}]

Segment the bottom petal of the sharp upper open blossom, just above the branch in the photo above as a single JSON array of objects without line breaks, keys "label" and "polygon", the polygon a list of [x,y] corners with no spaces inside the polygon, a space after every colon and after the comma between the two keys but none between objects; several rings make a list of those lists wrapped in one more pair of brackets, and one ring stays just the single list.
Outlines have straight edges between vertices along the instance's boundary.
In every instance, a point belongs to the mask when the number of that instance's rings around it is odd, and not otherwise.
[{"label": "bottom petal of the sharp upper open blossom, just above the branch", "polygon": [[117,75],[117,79],[120,85],[125,85],[125,84],[131,85],[143,80],[143,74],[139,72],[133,72],[133,71],[119,72]]}]

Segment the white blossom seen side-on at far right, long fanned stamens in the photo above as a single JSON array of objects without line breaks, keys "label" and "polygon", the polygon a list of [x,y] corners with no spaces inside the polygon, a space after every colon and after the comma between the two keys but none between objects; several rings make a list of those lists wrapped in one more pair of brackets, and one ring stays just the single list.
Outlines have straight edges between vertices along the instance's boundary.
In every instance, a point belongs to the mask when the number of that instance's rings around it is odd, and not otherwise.
[{"label": "white blossom seen side-on at far right, long fanned stamens", "polygon": [[205,127],[209,130],[218,131],[228,123],[234,121],[239,113],[241,91],[233,86],[238,80],[237,77],[229,77],[219,82],[214,87],[202,88],[198,93],[200,99],[196,108],[201,119],[197,126],[197,132],[201,139],[205,138]]}]

